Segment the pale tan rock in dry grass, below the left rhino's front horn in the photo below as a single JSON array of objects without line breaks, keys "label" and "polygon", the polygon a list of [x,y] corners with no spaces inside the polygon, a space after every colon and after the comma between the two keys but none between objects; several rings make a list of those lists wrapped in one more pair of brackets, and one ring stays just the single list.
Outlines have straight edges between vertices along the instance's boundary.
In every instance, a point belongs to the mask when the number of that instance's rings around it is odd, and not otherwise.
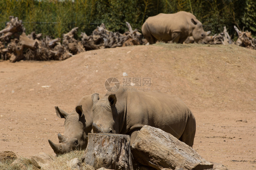
[{"label": "pale tan rock in dry grass, below the left rhino's front horn", "polygon": [[47,169],[50,170],[49,163],[53,161],[52,158],[43,152],[40,152],[36,155],[31,157],[31,162],[34,166],[38,167],[39,169]]}]

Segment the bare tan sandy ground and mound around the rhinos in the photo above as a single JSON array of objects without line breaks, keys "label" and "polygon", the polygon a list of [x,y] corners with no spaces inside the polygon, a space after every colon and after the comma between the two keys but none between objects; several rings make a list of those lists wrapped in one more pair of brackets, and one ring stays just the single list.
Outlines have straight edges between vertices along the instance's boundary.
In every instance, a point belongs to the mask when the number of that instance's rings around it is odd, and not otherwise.
[{"label": "bare tan sandy ground and mound around the rhinos", "polygon": [[54,106],[70,113],[82,96],[106,93],[109,77],[121,85],[150,78],[150,87],[136,88],[179,96],[196,118],[193,149],[228,169],[256,169],[256,51],[235,45],[160,43],[64,61],[0,60],[0,150],[54,154],[48,139],[57,143],[64,132]]}]

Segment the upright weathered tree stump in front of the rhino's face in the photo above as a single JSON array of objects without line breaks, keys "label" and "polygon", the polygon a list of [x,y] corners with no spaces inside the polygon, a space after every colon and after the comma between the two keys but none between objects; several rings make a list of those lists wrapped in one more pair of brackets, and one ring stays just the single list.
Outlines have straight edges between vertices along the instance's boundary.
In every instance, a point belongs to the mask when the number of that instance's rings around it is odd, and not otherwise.
[{"label": "upright weathered tree stump in front of the rhino's face", "polygon": [[82,161],[95,169],[133,170],[129,135],[89,133]]}]

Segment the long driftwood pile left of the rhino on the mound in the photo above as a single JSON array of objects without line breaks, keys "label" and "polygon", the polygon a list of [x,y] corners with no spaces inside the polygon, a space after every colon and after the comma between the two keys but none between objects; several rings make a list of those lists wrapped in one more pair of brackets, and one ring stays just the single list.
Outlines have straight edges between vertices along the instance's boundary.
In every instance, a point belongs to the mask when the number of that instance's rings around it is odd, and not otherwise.
[{"label": "long driftwood pile left of the rhino on the mound", "polygon": [[132,30],[127,22],[129,31],[121,34],[111,32],[102,23],[87,36],[81,33],[81,41],[74,38],[78,27],[73,28],[62,39],[42,38],[42,34],[32,32],[26,35],[22,21],[10,16],[6,28],[0,31],[0,58],[16,62],[19,60],[65,60],[74,54],[85,50],[114,48],[117,46],[145,44],[142,34],[137,29]]}]

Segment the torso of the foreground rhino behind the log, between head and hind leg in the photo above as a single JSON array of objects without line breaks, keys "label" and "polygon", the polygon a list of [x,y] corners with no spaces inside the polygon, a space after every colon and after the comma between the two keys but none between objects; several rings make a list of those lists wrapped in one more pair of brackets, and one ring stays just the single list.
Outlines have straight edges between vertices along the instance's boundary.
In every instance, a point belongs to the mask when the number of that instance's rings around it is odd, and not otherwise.
[{"label": "torso of the foreground rhino behind the log, between head and hind leg", "polygon": [[127,129],[123,131],[149,125],[179,138],[186,127],[190,112],[177,96],[159,92],[128,92],[126,103]]}]

